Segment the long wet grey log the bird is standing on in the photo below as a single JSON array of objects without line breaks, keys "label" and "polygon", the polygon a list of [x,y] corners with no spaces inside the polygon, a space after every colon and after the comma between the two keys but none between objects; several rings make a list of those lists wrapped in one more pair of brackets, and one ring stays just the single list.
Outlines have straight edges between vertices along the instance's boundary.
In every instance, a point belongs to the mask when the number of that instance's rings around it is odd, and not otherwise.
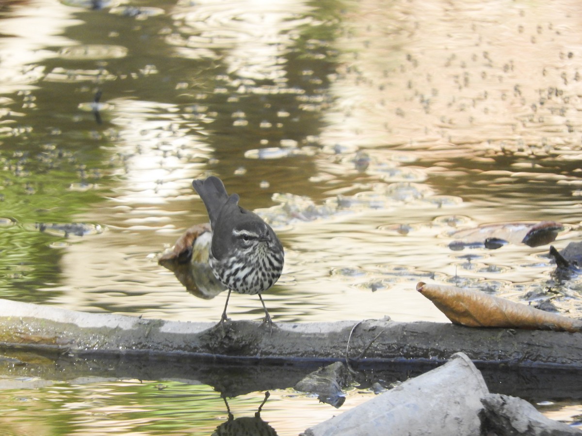
[{"label": "long wet grey log the bird is standing on", "polygon": [[582,333],[467,328],[384,320],[331,323],[191,323],[76,312],[0,299],[0,344],[74,353],[197,354],[282,363],[349,358],[371,364],[444,361],[463,351],[474,362],[582,369]]}]

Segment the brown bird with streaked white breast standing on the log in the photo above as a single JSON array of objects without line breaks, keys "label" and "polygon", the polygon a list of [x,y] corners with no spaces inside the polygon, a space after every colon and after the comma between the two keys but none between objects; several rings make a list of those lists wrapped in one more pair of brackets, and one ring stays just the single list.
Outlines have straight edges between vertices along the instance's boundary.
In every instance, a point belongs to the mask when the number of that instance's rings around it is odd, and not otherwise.
[{"label": "brown bird with streaked white breast standing on the log", "polygon": [[273,322],[261,293],[275,284],[283,270],[285,252],[275,231],[256,213],[239,206],[239,195],[228,195],[218,177],[194,180],[210,218],[212,241],[208,263],[214,276],[228,288],[224,311],[219,324],[228,320],[226,308],[230,292],[258,295],[264,322]]}]

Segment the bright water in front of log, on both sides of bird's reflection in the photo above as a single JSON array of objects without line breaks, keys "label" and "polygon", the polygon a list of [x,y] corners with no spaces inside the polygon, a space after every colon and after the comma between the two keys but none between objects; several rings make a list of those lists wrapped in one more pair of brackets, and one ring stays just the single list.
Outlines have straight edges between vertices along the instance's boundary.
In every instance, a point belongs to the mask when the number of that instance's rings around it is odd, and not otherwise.
[{"label": "bright water in front of log, on both sides of bird's reflection", "polygon": [[[261,428],[270,427],[279,436],[299,434],[307,426],[337,413],[315,398],[292,389],[276,389],[261,410]],[[350,392],[351,405],[364,402],[371,392]],[[212,434],[228,428],[251,431],[244,420],[254,418],[264,392],[228,399],[207,385],[178,381],[102,381],[52,384],[35,391],[0,390],[0,425],[9,434]],[[285,404],[295,404],[302,419],[290,417]],[[229,420],[229,412],[232,420]],[[30,414],[36,419],[30,421]],[[234,425],[233,425],[234,421]],[[238,433],[237,433],[238,434]]]}]

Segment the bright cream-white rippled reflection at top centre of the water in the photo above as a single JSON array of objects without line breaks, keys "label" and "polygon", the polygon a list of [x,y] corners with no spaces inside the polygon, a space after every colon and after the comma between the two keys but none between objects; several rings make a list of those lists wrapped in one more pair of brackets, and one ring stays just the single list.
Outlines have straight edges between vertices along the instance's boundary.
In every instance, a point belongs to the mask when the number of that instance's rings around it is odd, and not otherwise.
[{"label": "bright cream-white rippled reflection at top centre of the water", "polygon": [[181,1],[173,10],[179,35],[169,42],[187,58],[221,51],[226,73],[249,80],[242,86],[265,80],[281,84],[288,81],[285,56],[300,37],[300,27],[313,23],[311,10],[294,0],[203,1],[195,8]]}]

